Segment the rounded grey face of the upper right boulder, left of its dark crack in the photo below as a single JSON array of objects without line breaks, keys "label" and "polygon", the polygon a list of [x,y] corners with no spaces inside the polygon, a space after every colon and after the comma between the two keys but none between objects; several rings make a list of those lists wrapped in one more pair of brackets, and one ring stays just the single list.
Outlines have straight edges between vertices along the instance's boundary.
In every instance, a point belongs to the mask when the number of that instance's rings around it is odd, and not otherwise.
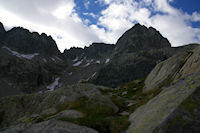
[{"label": "rounded grey face of the upper right boulder, left of its dark crack", "polygon": [[190,56],[187,52],[179,53],[156,65],[145,80],[144,92],[169,85]]}]

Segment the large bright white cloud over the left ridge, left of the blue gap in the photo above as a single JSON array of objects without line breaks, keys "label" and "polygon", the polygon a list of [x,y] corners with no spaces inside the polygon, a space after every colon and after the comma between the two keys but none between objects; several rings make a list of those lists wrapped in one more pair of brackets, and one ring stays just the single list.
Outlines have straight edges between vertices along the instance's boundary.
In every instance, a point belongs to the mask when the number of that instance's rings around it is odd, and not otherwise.
[{"label": "large bright white cloud over the left ridge, left of the blue gap", "polygon": [[[51,3],[46,6],[46,3]],[[72,46],[84,47],[99,37],[82,22],[75,12],[73,0],[7,0],[0,1],[0,21],[9,28],[22,26],[31,31],[45,32],[57,42],[63,51]],[[23,3],[24,2],[24,3]],[[21,4],[27,9],[21,7]],[[15,6],[12,6],[15,4]],[[33,13],[34,11],[34,13]],[[62,39],[57,36],[62,35]]]}]

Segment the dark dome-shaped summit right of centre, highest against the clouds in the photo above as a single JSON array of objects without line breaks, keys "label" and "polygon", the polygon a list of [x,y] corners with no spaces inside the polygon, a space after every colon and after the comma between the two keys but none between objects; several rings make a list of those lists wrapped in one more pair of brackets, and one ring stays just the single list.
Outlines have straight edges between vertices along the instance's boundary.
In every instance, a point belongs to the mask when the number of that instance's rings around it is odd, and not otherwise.
[{"label": "dark dome-shaped summit right of centre, highest against the clouds", "polygon": [[126,31],[116,43],[117,52],[135,52],[145,49],[170,47],[169,41],[153,27],[136,24]]}]

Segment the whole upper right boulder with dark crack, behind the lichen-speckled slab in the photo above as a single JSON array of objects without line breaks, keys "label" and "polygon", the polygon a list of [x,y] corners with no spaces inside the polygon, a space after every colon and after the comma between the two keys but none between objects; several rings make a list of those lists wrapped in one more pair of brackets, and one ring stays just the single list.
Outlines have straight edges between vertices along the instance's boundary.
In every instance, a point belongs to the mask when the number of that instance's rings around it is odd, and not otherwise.
[{"label": "whole upper right boulder with dark crack, behind the lichen-speckled slab", "polygon": [[178,53],[156,65],[145,80],[144,92],[170,85],[174,80],[198,72],[200,47]]}]

